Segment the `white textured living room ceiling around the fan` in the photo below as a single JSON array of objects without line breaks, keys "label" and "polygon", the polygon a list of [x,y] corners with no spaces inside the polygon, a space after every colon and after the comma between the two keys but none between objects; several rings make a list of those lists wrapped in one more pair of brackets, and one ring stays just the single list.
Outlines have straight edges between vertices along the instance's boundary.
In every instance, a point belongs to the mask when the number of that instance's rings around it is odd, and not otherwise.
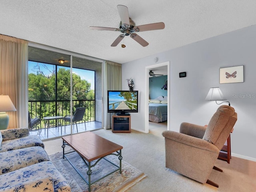
[{"label": "white textured living room ceiling around the fan", "polygon": [[[138,32],[111,47],[120,32],[116,6],[128,7],[135,24],[164,22],[163,30]],[[118,63],[144,58],[256,24],[255,0],[0,0],[0,34]]]}]

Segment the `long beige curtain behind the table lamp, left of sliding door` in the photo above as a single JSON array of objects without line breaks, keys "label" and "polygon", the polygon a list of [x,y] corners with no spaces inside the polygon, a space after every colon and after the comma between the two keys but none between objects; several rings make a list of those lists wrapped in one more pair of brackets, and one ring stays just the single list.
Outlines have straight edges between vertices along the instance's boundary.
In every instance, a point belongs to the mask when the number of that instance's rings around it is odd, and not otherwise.
[{"label": "long beige curtain behind the table lamp, left of sliding door", "polygon": [[7,112],[10,128],[26,127],[28,42],[0,35],[0,94],[9,95],[16,112]]}]

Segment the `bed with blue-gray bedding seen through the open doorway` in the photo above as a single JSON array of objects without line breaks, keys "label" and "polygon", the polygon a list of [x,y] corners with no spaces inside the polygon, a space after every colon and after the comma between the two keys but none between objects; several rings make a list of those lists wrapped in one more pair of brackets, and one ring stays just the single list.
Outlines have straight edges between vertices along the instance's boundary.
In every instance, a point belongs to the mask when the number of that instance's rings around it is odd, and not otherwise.
[{"label": "bed with blue-gray bedding seen through the open doorway", "polygon": [[155,123],[167,121],[167,97],[150,100],[148,107],[150,121]]}]

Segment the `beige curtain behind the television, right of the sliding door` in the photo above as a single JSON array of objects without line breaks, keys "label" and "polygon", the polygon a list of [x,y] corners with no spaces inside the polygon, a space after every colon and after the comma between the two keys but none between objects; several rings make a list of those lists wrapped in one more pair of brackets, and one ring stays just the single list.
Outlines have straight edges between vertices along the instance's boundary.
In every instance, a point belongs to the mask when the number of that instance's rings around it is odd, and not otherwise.
[{"label": "beige curtain behind the television, right of the sliding door", "polygon": [[[107,90],[122,90],[122,65],[106,61],[106,87]],[[112,128],[112,113],[107,113],[106,129]]]}]

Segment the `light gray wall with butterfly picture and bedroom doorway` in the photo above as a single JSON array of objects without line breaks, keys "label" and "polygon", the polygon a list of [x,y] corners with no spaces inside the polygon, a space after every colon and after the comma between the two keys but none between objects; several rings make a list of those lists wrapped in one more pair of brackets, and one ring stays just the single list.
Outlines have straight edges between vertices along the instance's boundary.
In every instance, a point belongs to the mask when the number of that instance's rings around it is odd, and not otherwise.
[{"label": "light gray wall with butterfly picture and bedroom doorway", "polygon": [[[205,97],[210,87],[220,87],[238,114],[231,134],[232,153],[256,160],[256,26],[122,64],[123,88],[128,88],[125,79],[132,77],[134,90],[139,90],[139,113],[132,114],[131,128],[141,132],[148,115],[144,113],[145,66],[155,64],[155,57],[157,63],[170,61],[170,130],[178,132],[181,122],[208,124],[220,105]],[[244,65],[243,83],[219,84],[219,68],[240,65]],[[187,72],[187,77],[179,78],[179,72]]]}]

